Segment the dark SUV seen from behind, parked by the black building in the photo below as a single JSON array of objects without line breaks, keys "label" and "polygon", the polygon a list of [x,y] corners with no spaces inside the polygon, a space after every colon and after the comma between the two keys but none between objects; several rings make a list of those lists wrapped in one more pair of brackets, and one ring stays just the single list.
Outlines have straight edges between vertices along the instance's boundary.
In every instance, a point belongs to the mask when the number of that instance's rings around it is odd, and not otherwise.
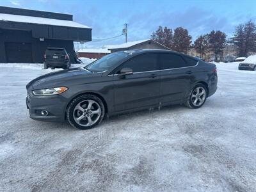
[{"label": "dark SUV seen from behind, parked by the black building", "polygon": [[44,68],[70,67],[70,59],[65,48],[48,47],[44,54]]}]

